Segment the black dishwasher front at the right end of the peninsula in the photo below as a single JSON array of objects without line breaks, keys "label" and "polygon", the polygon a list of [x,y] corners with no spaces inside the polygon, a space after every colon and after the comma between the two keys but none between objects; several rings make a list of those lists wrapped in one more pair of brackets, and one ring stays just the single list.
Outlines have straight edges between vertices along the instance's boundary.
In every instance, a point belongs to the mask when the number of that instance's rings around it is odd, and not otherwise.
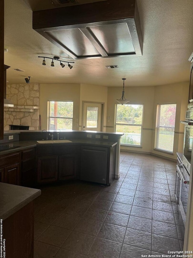
[{"label": "black dishwasher front at the right end of the peninsula", "polygon": [[81,147],[81,180],[106,184],[107,148]]}]

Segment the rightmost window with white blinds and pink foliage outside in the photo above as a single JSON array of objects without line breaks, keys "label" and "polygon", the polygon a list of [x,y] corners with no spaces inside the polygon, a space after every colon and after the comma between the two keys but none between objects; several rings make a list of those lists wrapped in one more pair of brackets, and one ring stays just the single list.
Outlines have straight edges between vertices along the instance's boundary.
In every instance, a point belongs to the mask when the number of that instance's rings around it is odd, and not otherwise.
[{"label": "rightmost window with white blinds and pink foliage outside", "polygon": [[155,149],[173,152],[176,104],[158,104]]}]

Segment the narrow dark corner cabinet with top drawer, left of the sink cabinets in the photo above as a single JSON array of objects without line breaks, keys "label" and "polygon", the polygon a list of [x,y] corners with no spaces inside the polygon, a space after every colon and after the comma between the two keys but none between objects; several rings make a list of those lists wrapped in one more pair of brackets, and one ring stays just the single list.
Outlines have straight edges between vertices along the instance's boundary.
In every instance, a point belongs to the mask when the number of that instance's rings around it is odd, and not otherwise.
[{"label": "narrow dark corner cabinet with top drawer, left of the sink cabinets", "polygon": [[21,152],[21,185],[32,187],[35,184],[35,148]]}]

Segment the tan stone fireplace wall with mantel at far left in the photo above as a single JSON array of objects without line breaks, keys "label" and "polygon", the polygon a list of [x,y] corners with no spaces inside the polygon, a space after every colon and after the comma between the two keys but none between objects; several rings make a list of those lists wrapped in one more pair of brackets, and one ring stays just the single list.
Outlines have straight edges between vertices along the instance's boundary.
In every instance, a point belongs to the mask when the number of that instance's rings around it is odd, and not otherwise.
[{"label": "tan stone fireplace wall with mantel at far left", "polygon": [[6,98],[14,107],[4,107],[4,130],[9,125],[29,126],[29,130],[38,130],[40,84],[8,84]]}]

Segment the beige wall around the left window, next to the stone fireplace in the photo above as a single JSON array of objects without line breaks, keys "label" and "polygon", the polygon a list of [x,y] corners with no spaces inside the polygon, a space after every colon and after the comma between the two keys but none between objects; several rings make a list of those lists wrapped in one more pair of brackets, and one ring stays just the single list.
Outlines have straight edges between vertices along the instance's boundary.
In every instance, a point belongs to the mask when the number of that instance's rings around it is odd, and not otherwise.
[{"label": "beige wall around the left window, next to the stone fireplace", "polygon": [[[80,84],[40,84],[41,129],[47,129],[47,101],[69,100],[74,102],[72,129],[78,130],[80,113]],[[75,122],[78,119],[78,122]]]}]

